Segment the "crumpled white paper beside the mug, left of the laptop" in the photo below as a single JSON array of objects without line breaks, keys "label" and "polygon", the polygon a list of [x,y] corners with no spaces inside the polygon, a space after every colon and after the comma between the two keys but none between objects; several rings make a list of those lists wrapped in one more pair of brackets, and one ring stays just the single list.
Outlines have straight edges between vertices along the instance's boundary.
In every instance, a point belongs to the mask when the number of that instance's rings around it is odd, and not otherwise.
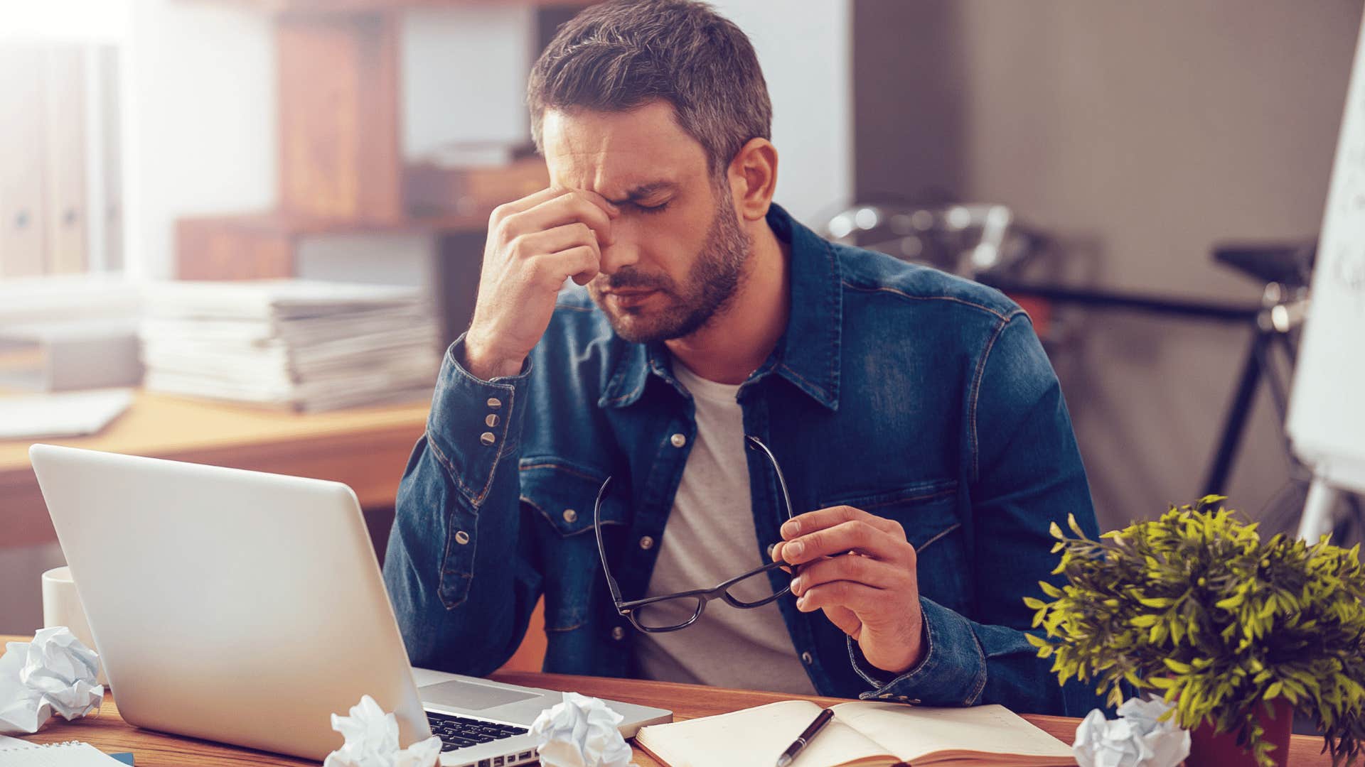
[{"label": "crumpled white paper beside the mug, left of the laptop", "polygon": [[33,641],[5,643],[0,656],[0,734],[31,734],[52,714],[67,721],[94,711],[104,701],[96,684],[100,655],[71,629],[51,626]]}]

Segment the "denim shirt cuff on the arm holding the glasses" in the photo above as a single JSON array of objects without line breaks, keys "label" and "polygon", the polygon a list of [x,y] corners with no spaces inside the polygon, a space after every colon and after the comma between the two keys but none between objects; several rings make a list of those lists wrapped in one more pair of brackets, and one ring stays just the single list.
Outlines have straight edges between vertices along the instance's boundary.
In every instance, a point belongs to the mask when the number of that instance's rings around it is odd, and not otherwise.
[{"label": "denim shirt cuff on the arm holding the glasses", "polygon": [[887,680],[867,662],[863,650],[848,637],[849,661],[872,691],[863,700],[894,700],[924,706],[975,706],[986,689],[986,654],[972,624],[932,599],[920,596],[924,616],[924,656],[909,671]]}]

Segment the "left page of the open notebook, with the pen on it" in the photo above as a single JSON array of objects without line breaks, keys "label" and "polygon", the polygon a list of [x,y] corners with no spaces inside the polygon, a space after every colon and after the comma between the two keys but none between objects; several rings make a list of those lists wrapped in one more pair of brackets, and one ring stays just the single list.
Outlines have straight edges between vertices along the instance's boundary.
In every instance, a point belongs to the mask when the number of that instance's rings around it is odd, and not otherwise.
[{"label": "left page of the open notebook, with the pen on it", "polygon": [[[820,707],[809,700],[784,700],[733,714],[651,725],[635,740],[669,767],[774,764],[819,712]],[[811,740],[792,767],[829,767],[859,759],[870,759],[874,764],[895,762],[885,748],[834,719]]]}]

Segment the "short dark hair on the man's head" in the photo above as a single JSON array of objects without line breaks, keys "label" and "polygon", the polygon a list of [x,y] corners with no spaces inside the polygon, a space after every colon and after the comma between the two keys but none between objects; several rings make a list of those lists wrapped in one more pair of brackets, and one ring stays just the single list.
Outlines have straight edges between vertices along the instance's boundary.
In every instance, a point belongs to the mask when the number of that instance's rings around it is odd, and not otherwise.
[{"label": "short dark hair on the man's head", "polygon": [[773,104],[753,45],[706,3],[612,1],[560,27],[531,68],[531,135],[546,109],[625,112],[662,98],[718,173],[749,139],[770,138]]}]

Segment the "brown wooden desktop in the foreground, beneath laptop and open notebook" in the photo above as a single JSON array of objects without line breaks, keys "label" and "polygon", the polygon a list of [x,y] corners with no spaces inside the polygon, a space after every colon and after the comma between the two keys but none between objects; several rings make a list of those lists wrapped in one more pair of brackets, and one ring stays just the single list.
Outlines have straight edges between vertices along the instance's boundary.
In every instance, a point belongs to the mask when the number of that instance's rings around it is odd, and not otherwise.
[{"label": "brown wooden desktop in the foreground, beneath laptop and open notebook", "polygon": [[[0,654],[4,652],[4,641],[25,641],[29,637],[0,636]],[[738,711],[764,703],[790,700],[792,695],[771,692],[753,692],[741,689],[721,689],[700,685],[682,685],[670,682],[648,682],[636,680],[607,680],[601,677],[569,677],[561,674],[541,674],[532,671],[502,671],[493,678],[511,684],[539,686],[546,689],[573,691],[597,697],[610,697],[627,703],[642,703],[646,706],[661,706],[673,710],[674,719],[695,719],[728,711]],[[837,697],[811,697],[820,704],[839,703]],[[1028,714],[1024,717],[1054,737],[1072,742],[1076,726],[1080,719],[1066,717],[1039,717]],[[1308,736],[1293,736],[1290,744],[1291,767],[1325,767],[1332,762],[1320,753],[1321,738]],[[131,751],[138,767],[171,767],[180,764],[198,764],[203,767],[228,767],[235,764],[258,766],[303,766],[317,767],[317,762],[291,759],[259,751],[231,748],[214,742],[177,736],[167,736],[150,730],[139,730],[126,723],[119,717],[119,710],[111,696],[105,696],[104,706],[98,715],[90,715],[75,722],[56,718],[44,726],[34,736],[25,736],[25,740],[35,742],[60,742],[64,740],[83,740],[101,751],[117,752]],[[647,753],[635,748],[635,763],[640,767],[659,767],[659,763]]]}]

